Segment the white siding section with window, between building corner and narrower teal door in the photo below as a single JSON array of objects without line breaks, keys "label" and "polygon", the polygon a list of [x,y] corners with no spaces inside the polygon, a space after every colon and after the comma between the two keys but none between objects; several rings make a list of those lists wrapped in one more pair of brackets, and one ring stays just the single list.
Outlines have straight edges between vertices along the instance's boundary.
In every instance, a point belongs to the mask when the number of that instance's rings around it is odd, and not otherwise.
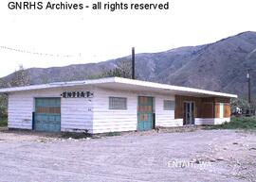
[{"label": "white siding section with window, between building corner and narrower teal door", "polygon": [[[137,94],[129,91],[94,91],[93,133],[137,130]],[[127,109],[109,109],[109,97],[127,98]]]}]

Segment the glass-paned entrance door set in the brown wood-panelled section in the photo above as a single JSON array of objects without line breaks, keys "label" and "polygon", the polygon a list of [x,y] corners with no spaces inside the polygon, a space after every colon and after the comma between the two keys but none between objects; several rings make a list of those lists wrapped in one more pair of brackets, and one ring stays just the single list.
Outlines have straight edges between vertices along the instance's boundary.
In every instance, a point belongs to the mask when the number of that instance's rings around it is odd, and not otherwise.
[{"label": "glass-paned entrance door set in the brown wood-panelled section", "polygon": [[184,102],[184,125],[194,124],[194,102]]}]

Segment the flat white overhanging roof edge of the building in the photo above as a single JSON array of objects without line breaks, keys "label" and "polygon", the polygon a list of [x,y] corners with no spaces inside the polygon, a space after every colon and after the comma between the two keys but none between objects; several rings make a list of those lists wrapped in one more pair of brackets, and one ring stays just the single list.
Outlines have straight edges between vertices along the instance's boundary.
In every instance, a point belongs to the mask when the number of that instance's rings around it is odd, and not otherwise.
[{"label": "flat white overhanging roof edge of the building", "polygon": [[70,82],[56,82],[49,83],[44,85],[31,85],[26,87],[15,87],[15,88],[5,88],[1,89],[0,93],[9,93],[16,91],[35,91],[35,90],[46,90],[53,88],[67,88],[75,86],[96,86],[105,89],[119,89],[126,91],[155,91],[159,93],[174,93],[181,95],[190,95],[190,96],[222,96],[222,97],[232,97],[237,98],[235,94],[229,94],[225,92],[218,91],[206,91],[193,89],[188,87],[179,87],[174,85],[159,84],[148,81],[140,81],[134,79],[127,79],[121,77],[107,77],[100,79],[90,79],[82,81],[70,81]]}]

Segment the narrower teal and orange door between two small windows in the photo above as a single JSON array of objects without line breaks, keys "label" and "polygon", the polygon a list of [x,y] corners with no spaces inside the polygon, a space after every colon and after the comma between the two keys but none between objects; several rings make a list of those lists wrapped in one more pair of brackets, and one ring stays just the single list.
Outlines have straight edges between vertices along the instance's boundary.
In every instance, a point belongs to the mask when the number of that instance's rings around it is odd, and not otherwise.
[{"label": "narrower teal and orange door between two small windows", "polygon": [[139,131],[153,129],[153,97],[138,97],[137,129]]}]

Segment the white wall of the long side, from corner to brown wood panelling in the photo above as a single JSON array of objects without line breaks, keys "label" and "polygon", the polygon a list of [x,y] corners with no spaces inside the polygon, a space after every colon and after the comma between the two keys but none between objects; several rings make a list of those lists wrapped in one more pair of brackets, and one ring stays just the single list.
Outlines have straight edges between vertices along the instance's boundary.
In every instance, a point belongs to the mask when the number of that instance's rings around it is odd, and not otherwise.
[{"label": "white wall of the long side, from corner to brown wood panelling", "polygon": [[[164,110],[164,100],[174,100],[174,96],[135,91],[114,91],[97,88],[94,91],[93,133],[137,130],[137,97],[155,98],[155,126],[171,127],[183,125],[182,120],[174,120],[174,110]],[[109,109],[109,97],[127,98],[127,109]]]}]

